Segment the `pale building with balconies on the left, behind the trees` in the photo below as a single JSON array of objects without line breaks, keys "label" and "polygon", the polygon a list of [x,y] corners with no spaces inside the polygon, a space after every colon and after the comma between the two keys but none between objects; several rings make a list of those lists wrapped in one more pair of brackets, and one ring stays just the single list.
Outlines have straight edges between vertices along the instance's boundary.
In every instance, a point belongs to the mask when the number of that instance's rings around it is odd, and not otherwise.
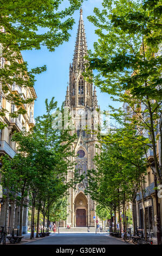
[{"label": "pale building with balconies on the left, behind the trees", "polygon": [[[23,59],[17,60],[18,62],[23,62]],[[6,60],[1,57],[1,68],[5,65]],[[19,87],[16,84],[12,84],[9,86],[10,93],[15,95],[20,95],[23,99],[36,99],[36,93],[34,88],[29,87]],[[22,108],[27,111],[25,114],[20,114],[16,118],[10,117],[10,113],[14,113],[17,111],[17,108],[14,104],[7,101],[5,99],[5,94],[2,90],[2,84],[0,84],[0,111],[1,109],[7,109],[5,115],[0,117],[0,120],[3,124],[7,126],[4,127],[3,130],[0,130],[0,156],[7,154],[9,157],[14,157],[17,153],[17,145],[15,142],[12,142],[12,136],[14,132],[20,132],[22,129],[26,131],[30,131],[31,127],[35,125],[34,120],[34,101],[30,104],[22,104]],[[0,173],[1,179],[1,173]],[[19,227],[19,206],[16,205],[16,202],[5,202],[5,191],[3,190],[2,186],[0,187],[0,226],[5,226],[7,223],[7,227],[10,228],[18,228]],[[7,220],[6,220],[7,217]],[[27,233],[28,227],[28,208],[23,208],[23,227],[22,233]]]}]

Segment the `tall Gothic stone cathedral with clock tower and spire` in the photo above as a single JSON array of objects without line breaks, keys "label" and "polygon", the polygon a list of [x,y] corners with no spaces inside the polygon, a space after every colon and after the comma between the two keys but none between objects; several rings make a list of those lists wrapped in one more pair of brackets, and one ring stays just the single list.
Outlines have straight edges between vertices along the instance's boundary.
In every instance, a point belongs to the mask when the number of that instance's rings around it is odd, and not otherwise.
[{"label": "tall Gothic stone cathedral with clock tower and spire", "polygon": [[[73,149],[75,150],[75,169],[79,174],[86,177],[87,170],[95,168],[93,158],[99,149],[95,147],[98,143],[94,123],[99,123],[99,109],[96,98],[96,90],[93,89],[93,84],[84,80],[82,73],[85,71],[87,60],[87,42],[85,27],[82,18],[82,9],[80,9],[80,20],[75,43],[73,63],[69,68],[69,86],[67,87],[66,106],[72,114],[75,130],[72,134],[77,134],[77,139],[74,142]],[[94,113],[95,114],[92,114]],[[84,130],[82,117],[85,117],[85,125],[90,123],[91,132]],[[72,179],[74,170],[69,170],[67,181]],[[95,227],[95,202],[89,195],[84,193],[87,187],[87,179],[85,178],[80,184],[77,184],[75,189],[69,189],[68,196],[68,217],[66,222],[61,222],[61,226],[70,225],[71,227]]]}]

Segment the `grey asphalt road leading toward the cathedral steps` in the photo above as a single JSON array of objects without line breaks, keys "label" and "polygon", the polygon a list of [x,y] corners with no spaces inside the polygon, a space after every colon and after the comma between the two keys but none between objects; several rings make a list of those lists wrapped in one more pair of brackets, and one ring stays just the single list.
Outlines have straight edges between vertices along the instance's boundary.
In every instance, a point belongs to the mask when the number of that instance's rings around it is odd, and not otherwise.
[{"label": "grey asphalt road leading toward the cathedral steps", "polygon": [[43,239],[24,245],[127,245],[126,242],[108,234],[50,234]]}]

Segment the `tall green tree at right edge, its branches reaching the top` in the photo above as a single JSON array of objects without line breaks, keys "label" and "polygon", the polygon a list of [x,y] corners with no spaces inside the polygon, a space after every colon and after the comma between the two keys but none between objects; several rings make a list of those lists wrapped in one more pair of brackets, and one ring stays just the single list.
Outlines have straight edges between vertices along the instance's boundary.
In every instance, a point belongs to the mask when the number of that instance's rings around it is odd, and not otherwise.
[{"label": "tall green tree at right edge, its branches reaching the top", "polygon": [[[88,17],[99,36],[94,43],[94,53],[90,53],[88,75],[93,69],[98,70],[94,76],[96,86],[111,94],[113,100],[128,103],[133,129],[148,134],[150,141],[144,142],[143,138],[140,141],[153,150],[155,170],[151,168],[157,187],[162,173],[162,158],[160,155],[158,159],[156,150],[162,138],[161,1],[103,0],[102,5],[102,11],[95,8],[95,16]],[[121,110],[114,113],[118,120],[119,114],[123,115]],[[132,127],[127,125],[127,129]],[[161,143],[159,146],[162,152]],[[158,209],[157,190],[155,193]],[[160,243],[158,211],[157,229]]]}]

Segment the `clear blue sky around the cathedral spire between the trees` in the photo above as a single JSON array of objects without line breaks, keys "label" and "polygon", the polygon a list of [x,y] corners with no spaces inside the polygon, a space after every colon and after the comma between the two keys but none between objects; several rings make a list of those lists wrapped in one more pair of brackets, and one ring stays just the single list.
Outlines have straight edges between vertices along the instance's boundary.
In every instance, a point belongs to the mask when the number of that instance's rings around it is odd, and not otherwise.
[{"label": "clear blue sky around the cathedral spire between the trees", "polygon": [[[102,8],[101,3],[102,0],[87,0],[82,5],[88,50],[93,50],[93,43],[98,40],[98,36],[95,35],[95,27],[87,20],[87,16],[93,14],[94,7]],[[65,100],[67,82],[69,81],[69,64],[73,59],[79,17],[80,11],[78,10],[74,13],[76,23],[73,30],[70,31],[69,41],[56,48],[55,52],[49,52],[46,47],[42,47],[41,50],[22,52],[23,59],[28,62],[29,69],[47,65],[47,71],[36,76],[35,117],[44,114],[44,101],[46,99],[50,100],[54,96],[59,107]],[[111,101],[107,93],[101,93],[99,88],[96,90],[101,110],[107,110],[109,104],[116,105],[116,102]]]}]

